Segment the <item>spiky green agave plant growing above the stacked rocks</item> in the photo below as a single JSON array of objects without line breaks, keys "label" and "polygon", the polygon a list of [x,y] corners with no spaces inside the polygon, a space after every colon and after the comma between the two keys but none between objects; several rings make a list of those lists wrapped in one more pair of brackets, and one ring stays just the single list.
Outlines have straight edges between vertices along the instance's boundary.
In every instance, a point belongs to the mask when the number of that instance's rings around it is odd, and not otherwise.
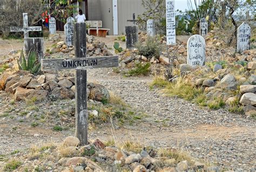
[{"label": "spiky green agave plant growing above the stacked rocks", "polygon": [[32,74],[37,74],[41,70],[41,63],[38,61],[35,51],[30,51],[28,60],[26,60],[23,50],[19,60],[17,59],[19,70],[30,71]]}]

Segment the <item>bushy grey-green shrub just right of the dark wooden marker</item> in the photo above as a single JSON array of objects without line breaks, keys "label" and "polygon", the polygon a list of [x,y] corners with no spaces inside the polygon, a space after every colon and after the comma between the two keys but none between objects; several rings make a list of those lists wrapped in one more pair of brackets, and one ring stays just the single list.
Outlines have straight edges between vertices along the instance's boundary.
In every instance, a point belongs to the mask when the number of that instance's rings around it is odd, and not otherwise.
[{"label": "bushy grey-green shrub just right of the dark wooden marker", "polygon": [[146,44],[143,45],[142,42],[138,42],[135,47],[138,49],[139,55],[144,55],[147,58],[159,58],[163,50],[163,46],[159,41],[155,41],[154,37],[147,37]]}]

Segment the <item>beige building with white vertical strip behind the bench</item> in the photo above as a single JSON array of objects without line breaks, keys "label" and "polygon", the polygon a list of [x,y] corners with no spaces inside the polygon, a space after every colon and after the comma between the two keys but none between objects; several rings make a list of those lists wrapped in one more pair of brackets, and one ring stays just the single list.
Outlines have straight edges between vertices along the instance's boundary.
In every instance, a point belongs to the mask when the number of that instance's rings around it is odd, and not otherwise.
[{"label": "beige building with white vertical strip behind the bench", "polygon": [[145,9],[142,0],[84,0],[79,8],[86,15],[86,20],[102,20],[103,28],[109,28],[110,35],[125,34],[125,26],[132,25],[127,20],[136,18]]}]

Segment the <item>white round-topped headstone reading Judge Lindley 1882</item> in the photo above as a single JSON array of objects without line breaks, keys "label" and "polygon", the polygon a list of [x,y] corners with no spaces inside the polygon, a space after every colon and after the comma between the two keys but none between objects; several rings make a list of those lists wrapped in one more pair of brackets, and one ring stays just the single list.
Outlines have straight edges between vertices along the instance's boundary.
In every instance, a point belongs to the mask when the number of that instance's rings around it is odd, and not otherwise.
[{"label": "white round-topped headstone reading Judge Lindley 1882", "polygon": [[187,64],[191,66],[205,64],[205,39],[201,35],[192,35],[187,40]]}]

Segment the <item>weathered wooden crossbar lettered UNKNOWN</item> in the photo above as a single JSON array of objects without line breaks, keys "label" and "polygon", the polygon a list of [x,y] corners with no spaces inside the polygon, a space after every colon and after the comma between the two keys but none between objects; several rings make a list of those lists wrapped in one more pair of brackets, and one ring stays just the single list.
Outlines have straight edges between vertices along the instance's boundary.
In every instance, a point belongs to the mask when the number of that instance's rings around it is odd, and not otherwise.
[{"label": "weathered wooden crossbar lettered UNKNOWN", "polygon": [[92,69],[118,67],[118,56],[75,59],[42,59],[41,70]]}]

